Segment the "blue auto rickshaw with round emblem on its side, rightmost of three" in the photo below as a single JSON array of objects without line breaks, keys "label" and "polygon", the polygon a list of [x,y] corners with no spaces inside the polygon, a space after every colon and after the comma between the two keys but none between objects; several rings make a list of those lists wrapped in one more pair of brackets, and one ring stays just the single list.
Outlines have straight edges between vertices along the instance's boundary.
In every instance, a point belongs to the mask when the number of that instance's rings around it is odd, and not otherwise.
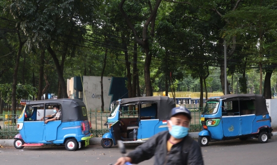
[{"label": "blue auto rickshaw with round emblem on its side, rightmost of three", "polygon": [[240,94],[211,97],[201,115],[203,131],[198,142],[206,146],[211,140],[249,137],[266,143],[271,138],[271,118],[262,95]]}]

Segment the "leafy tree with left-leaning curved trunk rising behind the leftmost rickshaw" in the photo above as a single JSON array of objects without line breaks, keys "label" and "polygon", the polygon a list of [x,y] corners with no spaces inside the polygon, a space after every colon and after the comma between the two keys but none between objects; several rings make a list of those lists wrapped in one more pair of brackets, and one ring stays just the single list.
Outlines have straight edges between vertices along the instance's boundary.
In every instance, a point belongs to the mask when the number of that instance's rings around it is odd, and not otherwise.
[{"label": "leafy tree with left-leaning curved trunk rising behind the leftmost rickshaw", "polygon": [[[63,98],[68,98],[63,77],[64,62],[70,43],[82,41],[85,27],[92,25],[100,1],[12,1],[9,12],[22,20],[20,28],[28,36],[28,47],[47,49],[55,63]],[[58,44],[56,41],[63,42]],[[60,47],[62,46],[62,47]],[[54,49],[53,49],[54,48]],[[62,52],[56,51],[61,48]],[[60,55],[61,57],[59,57]],[[61,62],[59,62],[61,58]]]}]

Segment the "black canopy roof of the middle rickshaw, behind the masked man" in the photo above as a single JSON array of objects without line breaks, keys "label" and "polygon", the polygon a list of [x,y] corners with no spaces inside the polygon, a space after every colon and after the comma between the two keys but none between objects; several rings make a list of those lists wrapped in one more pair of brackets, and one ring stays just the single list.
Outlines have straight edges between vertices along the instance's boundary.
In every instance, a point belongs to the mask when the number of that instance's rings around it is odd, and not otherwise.
[{"label": "black canopy roof of the middle rickshaw, behind the masked man", "polygon": [[157,115],[159,120],[169,120],[171,109],[175,107],[175,102],[172,98],[167,96],[149,96],[149,97],[134,97],[121,99],[121,104],[131,102],[156,102],[157,103]]}]

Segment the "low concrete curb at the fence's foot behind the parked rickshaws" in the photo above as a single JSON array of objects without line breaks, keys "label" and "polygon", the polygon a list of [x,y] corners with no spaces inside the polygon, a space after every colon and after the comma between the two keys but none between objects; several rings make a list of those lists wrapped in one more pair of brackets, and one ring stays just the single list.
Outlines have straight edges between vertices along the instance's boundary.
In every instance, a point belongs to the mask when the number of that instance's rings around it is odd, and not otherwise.
[{"label": "low concrete curb at the fence's foot behind the parked rickshaws", "polygon": [[[199,132],[191,132],[189,133],[189,136],[193,139],[198,138]],[[277,136],[277,132],[272,132],[273,136]],[[102,137],[93,137],[89,139],[90,145],[100,145],[101,144]],[[2,146],[13,146],[14,139],[0,139],[0,144]]]}]

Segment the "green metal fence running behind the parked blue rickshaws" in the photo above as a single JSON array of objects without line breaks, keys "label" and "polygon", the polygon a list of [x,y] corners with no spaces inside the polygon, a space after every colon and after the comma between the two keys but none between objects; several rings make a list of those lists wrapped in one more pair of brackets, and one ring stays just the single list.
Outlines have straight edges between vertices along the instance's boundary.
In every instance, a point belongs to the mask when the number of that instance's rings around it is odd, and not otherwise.
[{"label": "green metal fence running behind the parked blue rickshaws", "polygon": [[[199,132],[202,130],[200,123],[200,115],[203,108],[198,107],[197,104],[189,104],[186,107],[191,111],[192,119],[190,121],[189,132]],[[16,122],[21,111],[17,111],[16,114],[11,114],[9,111],[0,114],[0,139],[13,139],[16,134],[18,134]],[[107,126],[104,123],[107,121],[109,112],[88,112],[88,120],[91,123],[91,133],[94,137],[101,137],[103,134],[108,132]],[[121,118],[137,117],[137,111],[123,112]],[[14,123],[12,122],[14,121]]]}]

